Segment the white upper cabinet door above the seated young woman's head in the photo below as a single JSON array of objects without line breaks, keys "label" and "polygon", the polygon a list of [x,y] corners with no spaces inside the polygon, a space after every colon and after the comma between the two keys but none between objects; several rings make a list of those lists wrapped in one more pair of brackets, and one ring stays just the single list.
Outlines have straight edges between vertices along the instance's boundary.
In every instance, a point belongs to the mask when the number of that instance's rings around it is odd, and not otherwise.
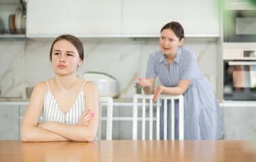
[{"label": "white upper cabinet door above the seated young woman's head", "polygon": [[121,0],[33,0],[27,3],[27,37],[121,34]]}]

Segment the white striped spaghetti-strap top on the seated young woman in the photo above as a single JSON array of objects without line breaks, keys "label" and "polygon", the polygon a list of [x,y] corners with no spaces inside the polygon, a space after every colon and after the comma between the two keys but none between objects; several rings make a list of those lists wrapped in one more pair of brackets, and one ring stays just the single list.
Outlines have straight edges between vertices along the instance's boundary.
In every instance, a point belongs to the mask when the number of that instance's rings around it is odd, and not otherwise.
[{"label": "white striped spaghetti-strap top on the seated young woman", "polygon": [[[47,80],[45,80],[47,82]],[[86,82],[87,80],[85,80]],[[85,84],[83,83],[83,85]],[[85,112],[85,97],[83,94],[83,86],[77,95],[77,99],[72,105],[68,113],[64,114],[60,109],[54,95],[49,90],[49,84],[47,82],[48,91],[45,94],[45,100],[43,104],[43,121],[55,121],[61,124],[75,125],[79,121],[81,115]]]}]

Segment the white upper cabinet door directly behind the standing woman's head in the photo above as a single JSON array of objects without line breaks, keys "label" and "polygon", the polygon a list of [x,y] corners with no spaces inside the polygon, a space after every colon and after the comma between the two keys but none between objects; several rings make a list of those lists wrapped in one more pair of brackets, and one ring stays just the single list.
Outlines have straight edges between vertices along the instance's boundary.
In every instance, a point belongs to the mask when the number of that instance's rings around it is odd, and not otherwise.
[{"label": "white upper cabinet door directly behind the standing woman's head", "polygon": [[216,0],[123,0],[123,34],[160,36],[168,22],[179,22],[185,36],[219,36]]}]

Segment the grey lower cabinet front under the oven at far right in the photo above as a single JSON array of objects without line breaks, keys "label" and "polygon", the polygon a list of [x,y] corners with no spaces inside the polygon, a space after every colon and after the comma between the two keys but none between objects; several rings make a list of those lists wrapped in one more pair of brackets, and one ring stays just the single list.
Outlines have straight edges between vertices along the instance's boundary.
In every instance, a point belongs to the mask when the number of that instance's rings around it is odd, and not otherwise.
[{"label": "grey lower cabinet front under the oven at far right", "polygon": [[256,107],[223,107],[224,140],[255,140]]}]

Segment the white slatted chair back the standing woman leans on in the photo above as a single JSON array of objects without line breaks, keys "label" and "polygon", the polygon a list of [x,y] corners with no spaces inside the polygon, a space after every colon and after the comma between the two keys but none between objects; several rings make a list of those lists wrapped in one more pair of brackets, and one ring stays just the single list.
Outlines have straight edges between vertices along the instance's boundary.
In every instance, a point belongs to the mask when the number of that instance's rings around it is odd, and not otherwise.
[{"label": "white slatted chair back the standing woman leans on", "polygon": [[[153,132],[153,99],[154,95],[135,94],[133,96],[133,140],[137,140],[137,107],[142,99],[142,140],[145,140],[146,100],[149,100],[149,140]],[[164,140],[167,140],[167,100],[171,100],[171,140],[175,139],[175,102],[179,100],[179,140],[184,140],[184,97],[183,95],[160,95],[156,100],[156,140],[160,139],[160,105],[164,100]]]}]

